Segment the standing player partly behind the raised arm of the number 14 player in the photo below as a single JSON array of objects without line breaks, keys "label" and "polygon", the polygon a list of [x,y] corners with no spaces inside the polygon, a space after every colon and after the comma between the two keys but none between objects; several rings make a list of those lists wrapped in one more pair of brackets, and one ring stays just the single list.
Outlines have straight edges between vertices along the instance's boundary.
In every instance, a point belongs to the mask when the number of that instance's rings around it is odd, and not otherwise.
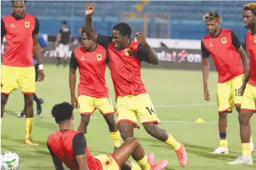
[{"label": "standing player partly behind the raised arm of the number 14 player", "polygon": [[[109,61],[106,50],[87,38],[82,30],[82,44],[75,48],[70,61],[70,95],[72,105],[80,109],[81,122],[78,131],[87,134],[90,116],[96,110],[104,116],[115,148],[121,145],[120,132],[115,123],[115,109],[109,98],[109,90],[105,80],[105,69]],[[78,99],[75,96],[75,71],[79,69],[80,83],[78,84]]]}]

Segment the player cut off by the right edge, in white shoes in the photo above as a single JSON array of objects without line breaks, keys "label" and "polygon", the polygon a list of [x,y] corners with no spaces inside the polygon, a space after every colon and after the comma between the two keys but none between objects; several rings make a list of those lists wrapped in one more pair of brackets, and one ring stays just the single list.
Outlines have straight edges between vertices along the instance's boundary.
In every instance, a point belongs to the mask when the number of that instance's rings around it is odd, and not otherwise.
[{"label": "player cut off by the right edge, in white shoes", "polygon": [[244,5],[244,27],[249,29],[245,35],[246,49],[249,54],[249,72],[245,75],[241,93],[244,93],[239,113],[240,137],[242,156],[228,164],[252,165],[252,153],[250,152],[249,137],[251,126],[249,120],[256,112],[256,3]]}]

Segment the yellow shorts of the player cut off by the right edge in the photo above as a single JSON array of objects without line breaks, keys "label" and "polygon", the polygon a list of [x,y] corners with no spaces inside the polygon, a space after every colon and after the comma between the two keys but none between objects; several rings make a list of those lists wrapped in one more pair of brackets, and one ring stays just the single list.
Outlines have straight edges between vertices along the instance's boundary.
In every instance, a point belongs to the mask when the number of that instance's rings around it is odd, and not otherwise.
[{"label": "yellow shorts of the player cut off by the right edge", "polygon": [[248,83],[241,100],[241,110],[256,112],[256,87]]}]

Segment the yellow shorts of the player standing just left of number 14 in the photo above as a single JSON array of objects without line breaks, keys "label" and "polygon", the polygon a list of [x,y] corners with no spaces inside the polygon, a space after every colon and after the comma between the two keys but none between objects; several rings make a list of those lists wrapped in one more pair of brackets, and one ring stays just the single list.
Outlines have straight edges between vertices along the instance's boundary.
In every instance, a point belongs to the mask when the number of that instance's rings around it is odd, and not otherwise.
[{"label": "yellow shorts of the player standing just left of number 14", "polygon": [[93,114],[97,108],[104,116],[115,114],[111,98],[94,98],[88,95],[80,95],[78,103],[80,114]]}]

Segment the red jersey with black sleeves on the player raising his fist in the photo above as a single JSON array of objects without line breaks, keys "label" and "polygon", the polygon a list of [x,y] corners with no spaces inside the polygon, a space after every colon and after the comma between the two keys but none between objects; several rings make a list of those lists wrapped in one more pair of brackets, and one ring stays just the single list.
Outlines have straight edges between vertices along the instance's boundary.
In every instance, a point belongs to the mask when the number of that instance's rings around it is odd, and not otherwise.
[{"label": "red jersey with black sleeves on the player raising his fist", "polygon": [[97,43],[107,48],[110,57],[110,70],[116,96],[147,93],[141,80],[141,61],[148,61],[145,47],[131,41],[123,50],[116,50],[112,38],[98,35]]}]

